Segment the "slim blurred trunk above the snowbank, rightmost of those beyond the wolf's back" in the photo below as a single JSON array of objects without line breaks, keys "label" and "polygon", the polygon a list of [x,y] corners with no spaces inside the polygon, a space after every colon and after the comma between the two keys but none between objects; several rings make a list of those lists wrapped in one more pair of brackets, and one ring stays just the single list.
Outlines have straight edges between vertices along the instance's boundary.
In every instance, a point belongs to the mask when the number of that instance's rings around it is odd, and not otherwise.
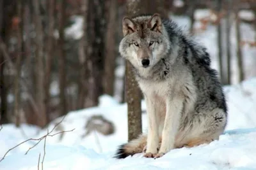
[{"label": "slim blurred trunk above the snowbank, rightmost of those beyond the wolf's back", "polygon": [[238,8],[236,7],[236,39],[237,39],[237,66],[238,66],[238,80],[239,82],[244,80],[244,68],[243,68],[243,53],[241,50],[241,32],[240,32],[240,18],[238,15]]}]

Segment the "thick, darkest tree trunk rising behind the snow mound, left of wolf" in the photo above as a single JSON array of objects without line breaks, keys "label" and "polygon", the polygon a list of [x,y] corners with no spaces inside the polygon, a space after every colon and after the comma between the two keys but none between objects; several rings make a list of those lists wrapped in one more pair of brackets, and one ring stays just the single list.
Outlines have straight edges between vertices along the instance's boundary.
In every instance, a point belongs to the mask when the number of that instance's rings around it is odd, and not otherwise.
[{"label": "thick, darkest tree trunk rising behind the snow mound, left of wolf", "polygon": [[105,1],[89,1],[88,18],[88,101],[86,106],[97,106],[99,96],[103,93],[103,70],[104,70],[104,32],[105,32]]}]

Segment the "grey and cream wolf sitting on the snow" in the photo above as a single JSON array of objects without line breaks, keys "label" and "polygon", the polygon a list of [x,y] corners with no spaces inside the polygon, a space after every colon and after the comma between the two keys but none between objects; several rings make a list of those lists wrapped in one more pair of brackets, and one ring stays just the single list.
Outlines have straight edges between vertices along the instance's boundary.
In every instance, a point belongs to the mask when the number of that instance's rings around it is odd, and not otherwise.
[{"label": "grey and cream wolf sitting on the snow", "polygon": [[124,17],[122,29],[119,52],[131,62],[145,98],[148,132],[120,145],[113,157],[143,152],[156,159],[218,140],[227,104],[206,48],[158,13]]}]

